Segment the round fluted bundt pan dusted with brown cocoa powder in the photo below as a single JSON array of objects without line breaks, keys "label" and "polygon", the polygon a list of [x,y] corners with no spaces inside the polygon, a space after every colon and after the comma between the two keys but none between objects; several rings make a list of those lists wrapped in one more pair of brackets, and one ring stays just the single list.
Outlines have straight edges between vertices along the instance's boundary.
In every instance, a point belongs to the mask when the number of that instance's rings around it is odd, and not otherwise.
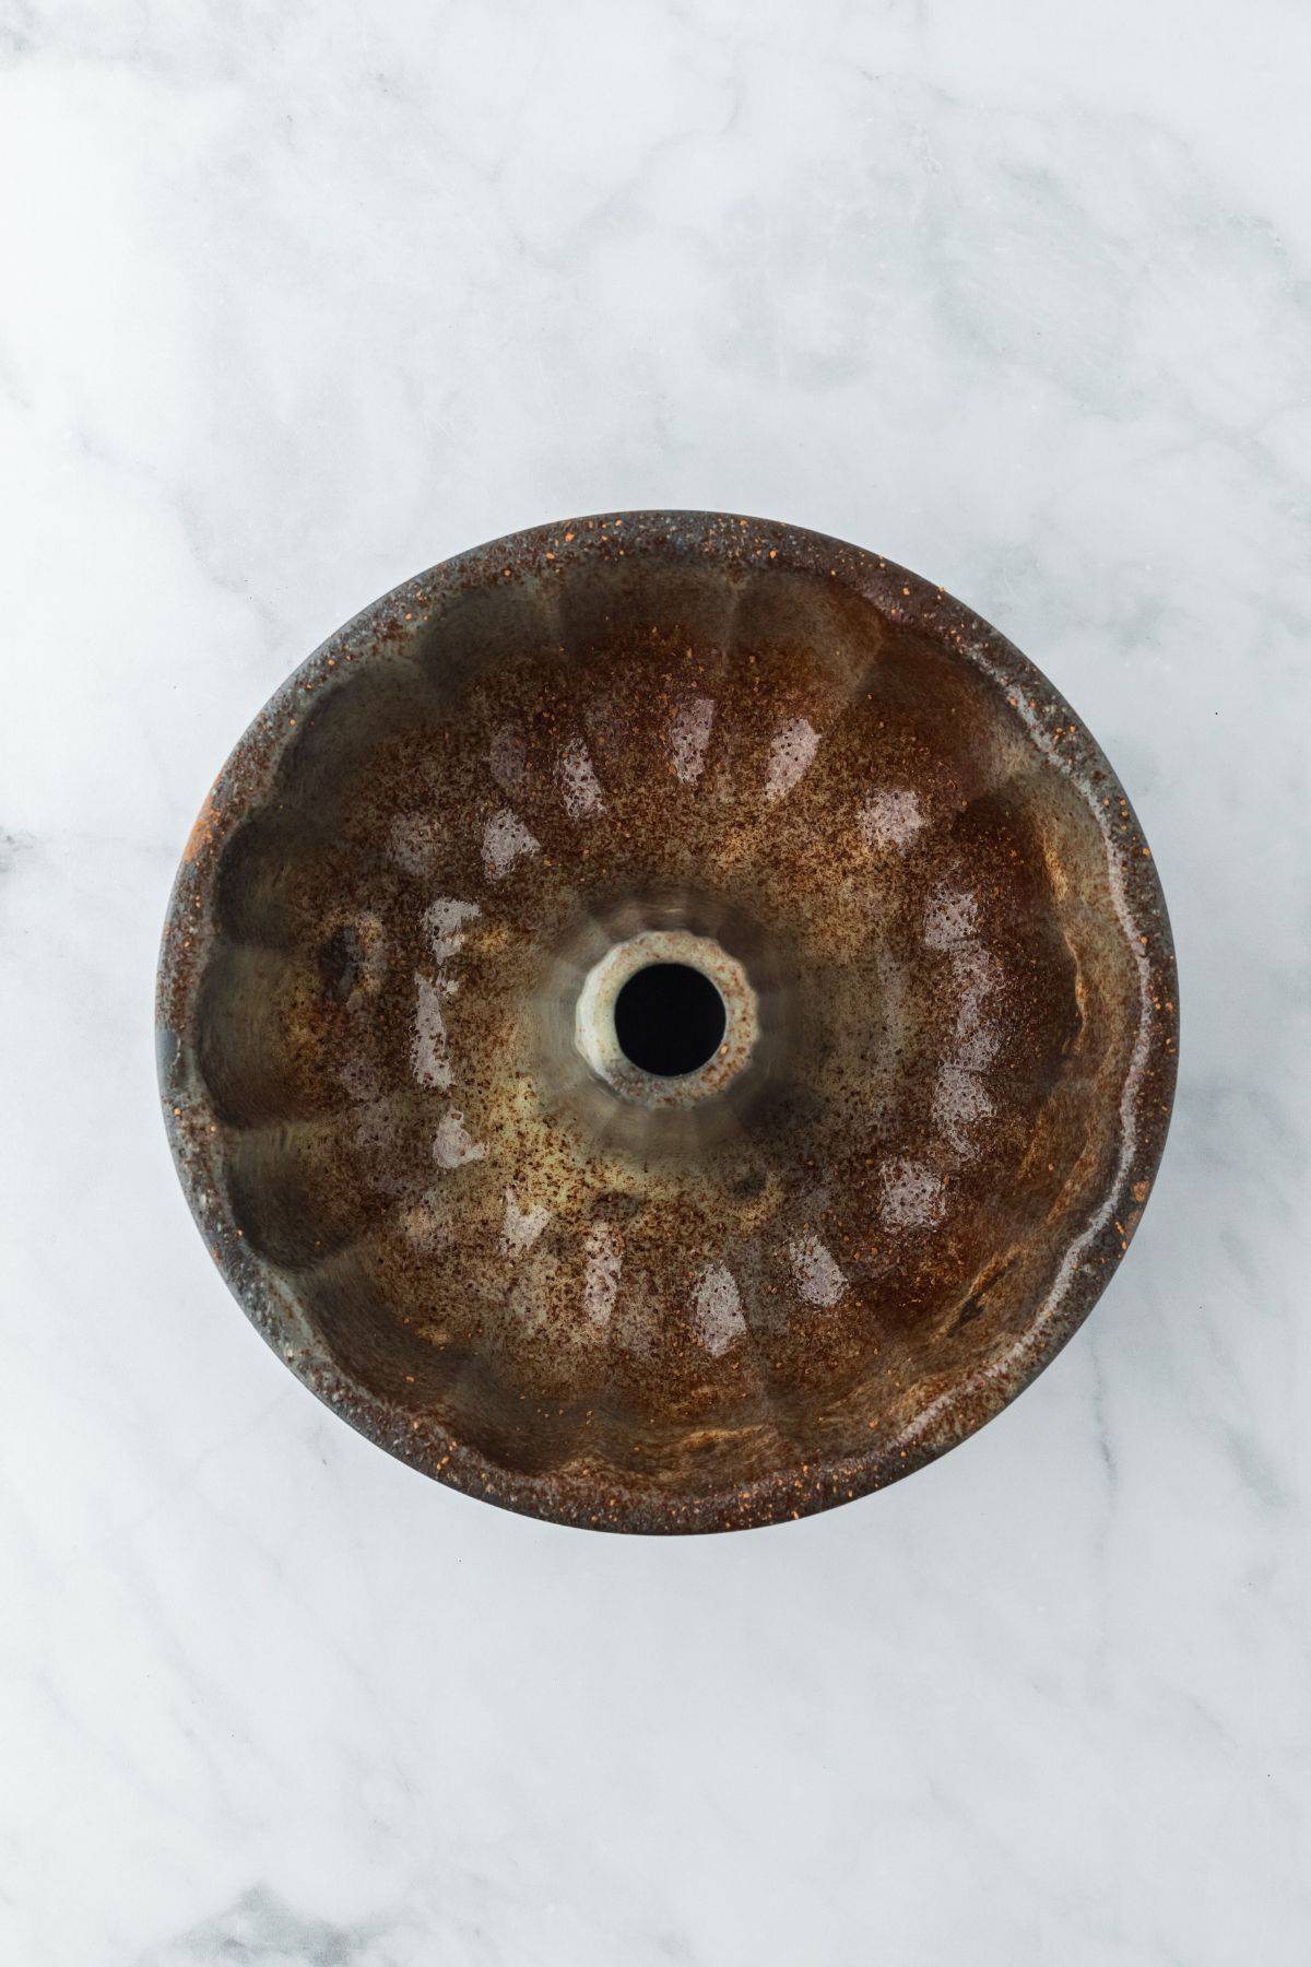
[{"label": "round fluted bundt pan dusted with brown cocoa powder", "polygon": [[1097,744],[941,588],[717,513],[544,525],[291,677],[173,891],[187,1198],[381,1448],[605,1530],[804,1517],[1107,1286],[1175,1078]]}]

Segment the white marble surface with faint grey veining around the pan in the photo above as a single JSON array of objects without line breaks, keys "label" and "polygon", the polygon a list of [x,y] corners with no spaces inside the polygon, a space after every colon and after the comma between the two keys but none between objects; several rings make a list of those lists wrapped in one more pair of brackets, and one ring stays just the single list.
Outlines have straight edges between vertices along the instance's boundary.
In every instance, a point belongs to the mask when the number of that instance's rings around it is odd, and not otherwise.
[{"label": "white marble surface with faint grey veining around the pan", "polygon": [[[1311,14],[0,12],[0,1957],[1311,1957]],[[566,511],[845,535],[1107,745],[1183,972],[1083,1334],[883,1497],[499,1515],[230,1302],[155,1105],[228,745]]]}]

